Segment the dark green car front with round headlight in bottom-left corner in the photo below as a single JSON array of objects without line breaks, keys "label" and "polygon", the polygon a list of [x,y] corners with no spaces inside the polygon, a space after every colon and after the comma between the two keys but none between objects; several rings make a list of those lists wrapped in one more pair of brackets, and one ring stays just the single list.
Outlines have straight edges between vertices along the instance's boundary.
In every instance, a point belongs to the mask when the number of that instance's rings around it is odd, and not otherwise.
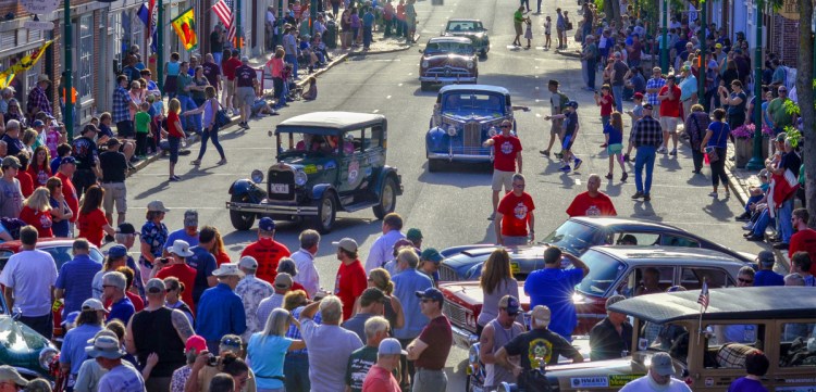
[{"label": "dark green car front with round headlight in bottom-left corner", "polygon": [[0,365],[9,365],[21,376],[53,380],[59,372],[60,351],[44,336],[17,320],[0,295]]}]

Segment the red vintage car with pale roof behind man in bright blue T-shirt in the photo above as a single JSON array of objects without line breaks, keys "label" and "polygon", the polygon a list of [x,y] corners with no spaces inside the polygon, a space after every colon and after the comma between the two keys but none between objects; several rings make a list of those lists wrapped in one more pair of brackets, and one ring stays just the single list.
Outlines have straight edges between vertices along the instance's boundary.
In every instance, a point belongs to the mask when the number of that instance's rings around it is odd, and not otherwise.
[{"label": "red vintage car with pale roof behind man in bright blue T-shirt", "polygon": [[[581,261],[590,267],[590,274],[576,286],[572,295],[578,313],[573,334],[589,333],[606,316],[604,306],[609,296],[633,296],[646,269],[657,269],[659,288],[665,291],[671,286],[700,289],[704,280],[710,288],[735,286],[737,274],[745,266],[727,254],[682,246],[593,246]],[[442,312],[450,320],[454,343],[467,349],[477,341],[477,319],[484,301],[479,281],[443,282],[440,290],[445,295]],[[522,307],[529,308],[523,280],[519,281],[519,296]]]}]

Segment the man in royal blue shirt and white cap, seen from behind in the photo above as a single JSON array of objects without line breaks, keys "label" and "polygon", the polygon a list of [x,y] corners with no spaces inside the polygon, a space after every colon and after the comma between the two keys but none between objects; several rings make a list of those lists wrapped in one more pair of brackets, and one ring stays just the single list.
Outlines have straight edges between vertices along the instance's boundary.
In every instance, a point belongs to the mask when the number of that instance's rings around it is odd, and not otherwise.
[{"label": "man in royal blue shirt and white cap, seen from behind", "polygon": [[235,263],[222,264],[212,271],[218,286],[207,289],[198,302],[196,331],[207,340],[211,353],[218,353],[219,342],[225,334],[240,336],[247,329],[244,302],[234,290],[244,273]]}]

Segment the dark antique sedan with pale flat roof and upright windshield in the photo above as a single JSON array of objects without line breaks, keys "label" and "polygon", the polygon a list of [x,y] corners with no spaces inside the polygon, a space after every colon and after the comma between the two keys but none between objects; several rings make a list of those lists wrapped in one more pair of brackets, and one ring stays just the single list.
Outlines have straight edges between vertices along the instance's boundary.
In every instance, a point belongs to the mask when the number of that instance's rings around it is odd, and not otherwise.
[{"label": "dark antique sedan with pale flat roof and upright windshield", "polygon": [[[277,163],[265,175],[230,186],[230,220],[248,230],[256,217],[276,220],[308,219],[329,232],[338,211],[372,207],[382,219],[403,194],[401,177],[385,165],[385,116],[350,112],[314,112],[288,118],[274,136]],[[271,132],[270,132],[271,134]]]}]

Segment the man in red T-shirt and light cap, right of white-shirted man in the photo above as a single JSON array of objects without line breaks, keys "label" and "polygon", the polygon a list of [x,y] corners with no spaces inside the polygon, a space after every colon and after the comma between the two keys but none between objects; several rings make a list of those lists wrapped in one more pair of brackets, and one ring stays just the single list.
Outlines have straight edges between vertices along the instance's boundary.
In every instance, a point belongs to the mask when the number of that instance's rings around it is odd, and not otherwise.
[{"label": "man in red T-shirt and light cap, right of white-shirted man", "polygon": [[337,246],[337,260],[342,263],[334,280],[334,295],[343,301],[343,320],[346,320],[351,317],[357,298],[368,287],[368,277],[358,260],[357,241],[344,238],[332,245]]}]

